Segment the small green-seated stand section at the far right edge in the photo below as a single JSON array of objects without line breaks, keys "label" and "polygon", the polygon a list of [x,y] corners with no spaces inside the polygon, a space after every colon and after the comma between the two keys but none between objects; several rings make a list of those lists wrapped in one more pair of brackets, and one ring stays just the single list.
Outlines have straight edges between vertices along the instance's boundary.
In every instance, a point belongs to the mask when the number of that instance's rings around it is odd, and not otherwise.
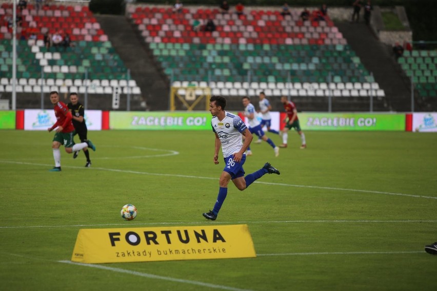
[{"label": "small green-seated stand section at the far right edge", "polygon": [[437,51],[405,50],[398,63],[422,97],[437,97]]}]

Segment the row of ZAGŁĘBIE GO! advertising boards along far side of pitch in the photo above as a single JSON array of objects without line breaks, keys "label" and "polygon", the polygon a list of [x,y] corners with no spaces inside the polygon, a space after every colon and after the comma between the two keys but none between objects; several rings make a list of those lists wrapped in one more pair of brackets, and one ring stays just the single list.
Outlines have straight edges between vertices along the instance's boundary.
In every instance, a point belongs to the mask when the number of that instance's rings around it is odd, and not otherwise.
[{"label": "row of ZAG\u0141\u0118BIE GO! advertising boards along far side of pitch", "polygon": [[[247,123],[242,112],[240,117]],[[271,112],[272,128],[285,126],[284,112]],[[210,113],[122,112],[87,110],[88,130],[211,130]],[[260,118],[260,117],[258,117]],[[55,123],[53,110],[0,111],[0,130],[47,130]],[[304,131],[414,131],[437,132],[437,113],[299,113]]]}]

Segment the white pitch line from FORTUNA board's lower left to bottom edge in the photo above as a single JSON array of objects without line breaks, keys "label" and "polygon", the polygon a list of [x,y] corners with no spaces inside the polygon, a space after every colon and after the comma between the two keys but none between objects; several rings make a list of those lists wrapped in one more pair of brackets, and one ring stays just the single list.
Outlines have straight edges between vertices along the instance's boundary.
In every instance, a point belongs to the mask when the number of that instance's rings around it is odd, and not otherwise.
[{"label": "white pitch line from FORTUNA board's lower left to bottom edge", "polygon": [[215,289],[232,290],[232,291],[249,291],[248,289],[240,289],[240,288],[228,287],[228,286],[224,286],[224,285],[215,285],[215,284],[204,283],[204,282],[193,281],[193,280],[185,280],[185,279],[177,279],[177,278],[171,278],[171,277],[165,277],[165,276],[158,276],[158,275],[153,275],[153,274],[148,274],[148,273],[130,271],[130,270],[122,269],[122,268],[107,267],[107,266],[103,266],[103,265],[75,263],[72,261],[58,261],[58,263],[65,263],[65,264],[78,265],[78,266],[84,266],[84,267],[90,267],[90,268],[97,268],[97,269],[103,269],[103,270],[111,271],[111,272],[124,273],[124,274],[133,275],[133,276],[145,277],[145,278],[149,278],[149,279],[158,279],[158,280],[191,284],[191,285],[197,285],[197,286],[209,287],[209,288],[215,288]]}]

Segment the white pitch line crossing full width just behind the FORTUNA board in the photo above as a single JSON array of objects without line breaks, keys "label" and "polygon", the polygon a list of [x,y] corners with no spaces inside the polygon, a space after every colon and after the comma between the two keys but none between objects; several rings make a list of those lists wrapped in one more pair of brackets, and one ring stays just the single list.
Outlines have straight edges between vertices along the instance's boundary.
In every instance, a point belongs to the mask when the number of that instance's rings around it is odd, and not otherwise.
[{"label": "white pitch line crossing full width just behind the FORTUNA board", "polygon": [[[210,224],[236,224],[236,223],[423,223],[437,222],[437,220],[283,220],[283,221],[214,221]],[[147,225],[175,225],[175,224],[205,224],[208,221],[191,222],[152,222],[152,223],[106,223],[106,224],[70,224],[70,225],[27,225],[27,226],[0,226],[7,228],[57,228],[57,227],[91,227],[91,226],[128,226],[139,227]]]}]

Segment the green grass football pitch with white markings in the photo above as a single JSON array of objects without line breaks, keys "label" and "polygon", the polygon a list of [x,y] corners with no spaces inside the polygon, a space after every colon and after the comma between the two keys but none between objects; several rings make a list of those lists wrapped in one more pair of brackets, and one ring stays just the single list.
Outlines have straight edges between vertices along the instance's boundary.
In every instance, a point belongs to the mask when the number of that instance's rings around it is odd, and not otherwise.
[{"label": "green grass football pitch with white markings", "polygon": [[[57,173],[53,133],[0,137],[0,289],[437,289],[424,251],[437,241],[437,134],[306,132],[300,150],[293,132],[277,158],[252,143],[246,173],[269,161],[281,175],[243,192],[230,183],[216,221],[202,216],[224,167],[212,132],[89,132],[92,168],[62,147]],[[133,221],[120,217],[127,203]],[[256,258],[70,262],[81,228],[230,224],[249,226]]]}]

